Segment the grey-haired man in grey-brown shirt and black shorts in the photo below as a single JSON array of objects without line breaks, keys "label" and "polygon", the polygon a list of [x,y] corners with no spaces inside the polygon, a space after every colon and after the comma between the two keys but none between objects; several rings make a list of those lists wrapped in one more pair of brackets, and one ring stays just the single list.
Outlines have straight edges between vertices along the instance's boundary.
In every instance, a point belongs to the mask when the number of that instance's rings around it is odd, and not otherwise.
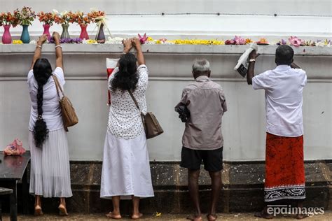
[{"label": "grey-haired man in grey-brown shirt and black shorts", "polygon": [[221,190],[221,169],[223,169],[221,117],[226,112],[227,106],[221,86],[209,79],[210,74],[209,62],[206,59],[195,60],[193,63],[195,82],[184,88],[181,101],[175,107],[180,115],[184,109],[188,112],[184,120],[186,129],[182,138],[181,166],[188,169],[188,189],[196,211],[195,215],[188,219],[195,221],[202,220],[198,192],[202,161],[212,179],[208,220],[216,220],[216,203]]}]

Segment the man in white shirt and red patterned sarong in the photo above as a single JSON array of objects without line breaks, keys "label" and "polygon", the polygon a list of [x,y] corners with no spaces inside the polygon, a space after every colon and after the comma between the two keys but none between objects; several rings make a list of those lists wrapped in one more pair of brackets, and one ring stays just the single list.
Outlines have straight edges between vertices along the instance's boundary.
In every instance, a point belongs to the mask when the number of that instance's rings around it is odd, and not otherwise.
[{"label": "man in white shirt and red patterned sarong", "polygon": [[[266,150],[265,209],[255,215],[273,218],[268,204],[280,199],[295,199],[302,208],[305,199],[303,162],[303,87],[305,71],[293,63],[293,49],[280,45],[275,52],[277,67],[254,76],[256,51],[249,55],[247,83],[254,90],[265,90]],[[270,212],[269,212],[270,211]],[[305,218],[298,213],[296,218]]]}]

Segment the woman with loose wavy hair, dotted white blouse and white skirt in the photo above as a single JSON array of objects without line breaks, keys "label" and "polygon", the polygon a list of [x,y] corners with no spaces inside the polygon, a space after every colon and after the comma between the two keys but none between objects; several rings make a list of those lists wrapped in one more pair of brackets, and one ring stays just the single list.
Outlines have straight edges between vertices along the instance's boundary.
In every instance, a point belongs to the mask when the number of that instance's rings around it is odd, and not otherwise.
[{"label": "woman with loose wavy hair, dotted white blouse and white skirt", "polygon": [[[134,46],[137,59],[130,53]],[[109,77],[111,107],[104,143],[100,197],[112,199],[113,211],[106,216],[120,219],[120,199],[132,199],[132,219],[141,218],[139,199],[153,197],[146,135],[141,112],[146,113],[148,69],[139,39],[124,41],[124,55]],[[138,66],[137,66],[138,63]],[[128,90],[139,104],[135,106]]]}]

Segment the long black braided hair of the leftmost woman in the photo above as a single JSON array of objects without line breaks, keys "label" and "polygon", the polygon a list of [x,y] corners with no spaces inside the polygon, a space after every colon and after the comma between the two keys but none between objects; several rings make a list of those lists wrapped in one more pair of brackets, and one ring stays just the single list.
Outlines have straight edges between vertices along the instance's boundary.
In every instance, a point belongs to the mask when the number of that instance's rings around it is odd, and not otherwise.
[{"label": "long black braided hair of the leftmost woman", "polygon": [[34,125],[34,143],[36,147],[42,148],[43,143],[48,136],[48,128],[43,120],[43,85],[48,82],[48,78],[52,75],[52,66],[48,59],[37,59],[34,63],[34,78],[38,84],[37,92],[37,109],[38,117]]}]

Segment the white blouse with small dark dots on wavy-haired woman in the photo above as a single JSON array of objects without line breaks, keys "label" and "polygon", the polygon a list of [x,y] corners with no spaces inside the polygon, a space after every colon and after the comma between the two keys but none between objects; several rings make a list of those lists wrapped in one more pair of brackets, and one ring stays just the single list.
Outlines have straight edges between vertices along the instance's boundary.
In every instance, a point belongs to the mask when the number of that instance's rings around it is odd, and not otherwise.
[{"label": "white blouse with small dark dots on wavy-haired woman", "polygon": [[137,68],[139,80],[137,87],[132,93],[139,104],[139,110],[135,106],[129,92],[111,90],[111,82],[119,69],[114,69],[109,77],[109,90],[111,91],[111,107],[109,108],[108,129],[117,138],[131,139],[144,132],[141,122],[141,112],[146,114],[146,89],[148,87],[148,69],[142,64]]}]

